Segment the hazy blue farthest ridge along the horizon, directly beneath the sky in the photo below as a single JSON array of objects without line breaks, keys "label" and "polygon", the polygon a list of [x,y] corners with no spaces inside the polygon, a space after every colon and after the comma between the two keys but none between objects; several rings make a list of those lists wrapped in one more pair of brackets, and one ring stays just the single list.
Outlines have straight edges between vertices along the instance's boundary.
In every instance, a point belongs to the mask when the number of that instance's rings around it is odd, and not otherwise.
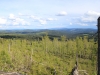
[{"label": "hazy blue farthest ridge along the horizon, directly beneath the sky", "polygon": [[38,31],[46,31],[46,30],[55,30],[55,31],[68,31],[68,32],[95,32],[97,29],[93,28],[51,28],[51,29],[7,29],[0,30],[0,32],[38,32]]}]

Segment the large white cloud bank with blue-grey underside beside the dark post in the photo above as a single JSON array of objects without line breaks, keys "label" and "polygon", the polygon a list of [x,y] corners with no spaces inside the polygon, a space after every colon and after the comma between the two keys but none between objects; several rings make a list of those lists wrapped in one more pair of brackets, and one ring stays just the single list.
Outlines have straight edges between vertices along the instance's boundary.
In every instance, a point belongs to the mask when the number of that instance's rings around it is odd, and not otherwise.
[{"label": "large white cloud bank with blue-grey underside beside the dark post", "polygon": [[99,12],[88,11],[80,17],[73,18],[72,23],[80,26],[96,26],[97,19],[99,16],[100,16]]}]

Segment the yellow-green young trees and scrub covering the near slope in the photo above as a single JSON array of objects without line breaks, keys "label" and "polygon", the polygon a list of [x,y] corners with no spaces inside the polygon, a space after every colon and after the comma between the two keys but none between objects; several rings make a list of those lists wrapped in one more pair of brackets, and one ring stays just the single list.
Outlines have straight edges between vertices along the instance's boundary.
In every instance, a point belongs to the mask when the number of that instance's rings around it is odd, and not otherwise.
[{"label": "yellow-green young trees and scrub covering the near slope", "polygon": [[97,41],[87,36],[61,40],[47,35],[41,40],[0,38],[0,70],[25,75],[69,75],[78,68],[89,75],[97,72]]}]

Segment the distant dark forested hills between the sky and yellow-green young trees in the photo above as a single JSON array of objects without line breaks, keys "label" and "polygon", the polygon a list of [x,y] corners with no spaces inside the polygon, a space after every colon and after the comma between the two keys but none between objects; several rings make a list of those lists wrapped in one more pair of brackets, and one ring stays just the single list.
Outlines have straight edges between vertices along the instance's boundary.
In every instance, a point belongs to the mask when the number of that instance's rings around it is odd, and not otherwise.
[{"label": "distant dark forested hills between the sky and yellow-green young trees", "polygon": [[[96,37],[94,34],[97,33],[97,29],[82,29],[82,28],[60,28],[60,29],[25,29],[25,30],[0,30],[0,37],[6,39],[28,39],[37,40],[37,38],[42,39],[41,36],[48,35],[51,40],[53,38],[58,38],[60,40],[61,36],[66,36],[67,39],[73,39],[77,36],[84,37],[87,35],[89,38]],[[96,38],[97,39],[97,38]]]}]

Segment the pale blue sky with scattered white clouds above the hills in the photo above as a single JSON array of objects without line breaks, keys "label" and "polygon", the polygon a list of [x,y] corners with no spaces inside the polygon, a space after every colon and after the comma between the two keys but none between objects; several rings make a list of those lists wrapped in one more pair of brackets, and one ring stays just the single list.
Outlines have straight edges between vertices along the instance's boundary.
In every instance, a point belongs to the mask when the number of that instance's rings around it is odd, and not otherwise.
[{"label": "pale blue sky with scattered white clouds above the hills", "polygon": [[97,28],[100,0],[1,0],[0,29]]}]

